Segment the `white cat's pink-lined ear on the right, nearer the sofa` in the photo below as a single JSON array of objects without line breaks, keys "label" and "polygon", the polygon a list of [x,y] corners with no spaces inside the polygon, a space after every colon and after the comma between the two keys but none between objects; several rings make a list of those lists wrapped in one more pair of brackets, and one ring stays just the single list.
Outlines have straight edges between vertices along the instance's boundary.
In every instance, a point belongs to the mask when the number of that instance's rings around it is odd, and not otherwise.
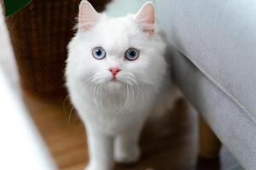
[{"label": "white cat's pink-lined ear on the right, nearer the sofa", "polygon": [[143,4],[143,7],[137,12],[134,17],[138,26],[141,27],[143,32],[149,35],[154,34],[154,5],[151,2]]}]

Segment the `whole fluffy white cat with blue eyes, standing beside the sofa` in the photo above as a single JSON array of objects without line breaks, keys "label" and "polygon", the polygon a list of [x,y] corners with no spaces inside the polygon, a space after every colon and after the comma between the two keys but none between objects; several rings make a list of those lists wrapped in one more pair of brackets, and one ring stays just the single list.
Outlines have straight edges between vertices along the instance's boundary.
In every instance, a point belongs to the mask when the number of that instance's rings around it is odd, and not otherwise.
[{"label": "whole fluffy white cat with blue eyes, standing beside the sofa", "polygon": [[154,6],[111,18],[83,0],[68,45],[67,88],[87,131],[86,170],[140,157],[144,122],[169,82],[166,45],[154,29]]}]

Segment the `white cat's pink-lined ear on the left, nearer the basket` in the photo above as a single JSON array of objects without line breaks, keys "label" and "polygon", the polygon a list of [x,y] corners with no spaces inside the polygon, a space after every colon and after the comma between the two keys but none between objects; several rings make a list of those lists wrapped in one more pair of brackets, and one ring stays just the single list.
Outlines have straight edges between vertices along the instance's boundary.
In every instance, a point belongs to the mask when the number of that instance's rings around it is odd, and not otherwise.
[{"label": "white cat's pink-lined ear on the left, nearer the basket", "polygon": [[86,1],[82,0],[79,5],[79,31],[87,31],[96,24],[99,14],[96,9]]}]

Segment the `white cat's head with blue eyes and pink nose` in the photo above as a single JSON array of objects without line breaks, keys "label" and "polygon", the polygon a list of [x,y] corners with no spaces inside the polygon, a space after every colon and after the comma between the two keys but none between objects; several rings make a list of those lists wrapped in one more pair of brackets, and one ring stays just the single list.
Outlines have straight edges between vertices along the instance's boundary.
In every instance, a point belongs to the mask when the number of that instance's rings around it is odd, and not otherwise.
[{"label": "white cat's head with blue eyes and pink nose", "polygon": [[78,32],[68,49],[67,79],[83,86],[154,86],[166,74],[165,43],[154,31],[152,3],[137,14],[110,18],[83,0]]}]

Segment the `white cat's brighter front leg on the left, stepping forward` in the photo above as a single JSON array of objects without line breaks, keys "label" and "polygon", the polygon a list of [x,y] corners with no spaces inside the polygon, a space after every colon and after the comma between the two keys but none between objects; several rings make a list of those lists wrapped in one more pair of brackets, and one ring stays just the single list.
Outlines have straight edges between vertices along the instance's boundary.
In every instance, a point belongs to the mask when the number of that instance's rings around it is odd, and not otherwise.
[{"label": "white cat's brighter front leg on the left, stepping forward", "polygon": [[90,161],[85,170],[113,169],[113,138],[86,125]]}]

